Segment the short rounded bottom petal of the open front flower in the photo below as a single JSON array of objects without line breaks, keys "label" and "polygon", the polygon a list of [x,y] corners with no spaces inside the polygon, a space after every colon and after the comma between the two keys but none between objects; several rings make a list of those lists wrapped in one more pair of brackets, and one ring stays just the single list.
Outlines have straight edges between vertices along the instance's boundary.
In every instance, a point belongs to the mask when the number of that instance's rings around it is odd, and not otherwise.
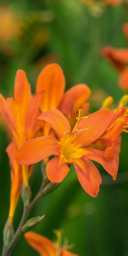
[{"label": "short rounded bottom petal of the open front flower", "polygon": [[55,156],[47,163],[46,172],[48,179],[53,183],[59,183],[70,171],[63,157]]}]

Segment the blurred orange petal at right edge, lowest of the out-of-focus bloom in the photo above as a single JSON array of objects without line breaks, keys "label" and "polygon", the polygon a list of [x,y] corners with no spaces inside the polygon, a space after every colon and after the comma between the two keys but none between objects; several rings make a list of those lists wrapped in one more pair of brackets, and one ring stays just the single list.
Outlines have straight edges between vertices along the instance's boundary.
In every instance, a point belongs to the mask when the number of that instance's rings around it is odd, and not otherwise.
[{"label": "blurred orange petal at right edge, lowest of the out-of-focus bloom", "polygon": [[124,90],[128,89],[128,67],[125,67],[119,75],[119,86]]}]

